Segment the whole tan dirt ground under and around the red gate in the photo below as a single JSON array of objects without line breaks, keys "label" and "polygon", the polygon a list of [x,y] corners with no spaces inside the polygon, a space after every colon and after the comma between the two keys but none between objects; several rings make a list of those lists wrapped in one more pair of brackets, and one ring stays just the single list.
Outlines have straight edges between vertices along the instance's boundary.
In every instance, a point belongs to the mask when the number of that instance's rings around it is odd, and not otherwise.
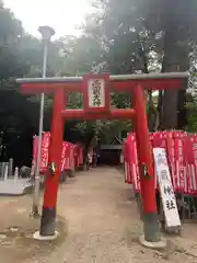
[{"label": "whole tan dirt ground under and around the red gate", "polygon": [[2,263],[148,263],[197,262],[197,225],[184,225],[182,237],[166,237],[164,251],[138,243],[141,221],[131,190],[115,168],[77,173],[60,186],[59,238],[37,242],[39,220],[30,217],[31,196],[0,197]]}]

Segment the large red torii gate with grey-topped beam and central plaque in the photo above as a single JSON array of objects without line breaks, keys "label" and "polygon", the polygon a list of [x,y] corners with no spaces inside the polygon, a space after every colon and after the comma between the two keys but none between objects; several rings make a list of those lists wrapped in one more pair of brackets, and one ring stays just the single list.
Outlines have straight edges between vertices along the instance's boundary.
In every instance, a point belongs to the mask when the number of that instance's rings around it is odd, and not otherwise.
[{"label": "large red torii gate with grey-topped beam and central plaque", "polygon": [[[48,174],[46,179],[39,229],[40,236],[49,237],[55,235],[56,203],[65,119],[134,118],[140,167],[144,240],[149,242],[158,242],[161,240],[155,203],[153,160],[149,144],[144,89],[162,90],[179,88],[181,82],[187,78],[187,72],[175,72],[121,76],[101,73],[86,75],[83,78],[28,78],[16,80],[16,82],[21,84],[21,91],[24,94],[54,93],[49,163],[53,164],[51,167],[56,167],[56,169],[54,174]],[[134,107],[130,110],[111,108],[111,91],[131,92]],[[81,92],[83,94],[82,110],[66,108],[67,92]]]}]

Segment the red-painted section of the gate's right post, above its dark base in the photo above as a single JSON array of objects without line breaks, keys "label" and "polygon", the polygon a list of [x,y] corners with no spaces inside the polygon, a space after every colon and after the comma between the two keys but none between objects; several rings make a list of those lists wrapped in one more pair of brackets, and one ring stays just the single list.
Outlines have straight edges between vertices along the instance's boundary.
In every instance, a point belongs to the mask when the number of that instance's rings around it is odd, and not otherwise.
[{"label": "red-painted section of the gate's right post, above its dark base", "polygon": [[132,90],[132,105],[136,110],[134,121],[139,170],[146,165],[148,169],[148,174],[150,174],[150,176],[148,176],[143,175],[142,172],[140,172],[142,209],[144,214],[157,214],[153,159],[149,140],[144,91],[140,85],[136,87],[136,89]]}]

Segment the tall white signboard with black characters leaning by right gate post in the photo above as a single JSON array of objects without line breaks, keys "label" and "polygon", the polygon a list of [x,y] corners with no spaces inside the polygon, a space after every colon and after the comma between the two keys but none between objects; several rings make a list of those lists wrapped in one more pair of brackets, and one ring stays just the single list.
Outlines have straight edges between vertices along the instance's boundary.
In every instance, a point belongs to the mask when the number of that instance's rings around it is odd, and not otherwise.
[{"label": "tall white signboard with black characters leaning by right gate post", "polygon": [[165,149],[153,148],[153,157],[166,227],[179,227],[181,220]]}]

